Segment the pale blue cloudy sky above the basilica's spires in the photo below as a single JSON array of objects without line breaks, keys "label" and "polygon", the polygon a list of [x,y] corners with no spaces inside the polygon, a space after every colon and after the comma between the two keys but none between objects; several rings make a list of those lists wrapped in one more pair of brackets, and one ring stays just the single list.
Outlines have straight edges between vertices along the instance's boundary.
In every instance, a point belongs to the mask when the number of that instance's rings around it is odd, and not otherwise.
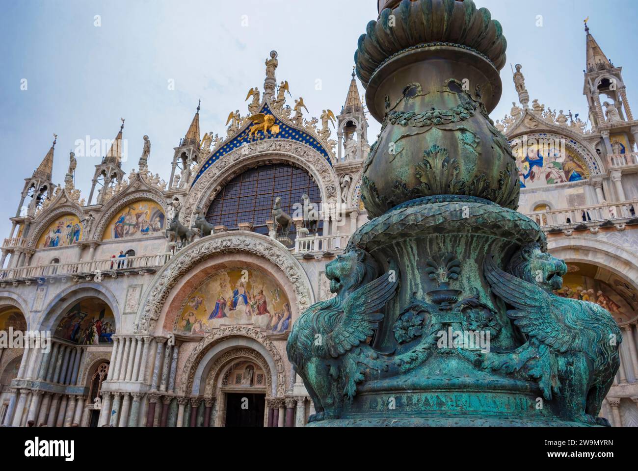
[{"label": "pale blue cloudy sky above the basilica's spires", "polygon": [[[126,119],[126,174],[137,167],[142,136],[149,168],[168,181],[179,145],[202,100],[202,135],[226,133],[226,117],[251,87],[263,89],[264,61],[277,50],[278,80],[302,96],[312,116],[343,106],[360,34],[377,17],[376,0],[0,0],[0,240],[8,237],[24,179],[58,135],[53,181],[63,184],[78,140],[113,139]],[[587,116],[582,96],[583,20],[607,57],[623,67],[638,107],[638,1],[475,0],[503,26],[508,64],[494,120],[517,94],[523,65],[530,101]],[[26,81],[25,81],[26,80]],[[25,89],[26,84],[26,89]],[[172,84],[172,86],[171,86]],[[359,84],[359,91],[364,93]],[[288,97],[288,103],[292,98]],[[380,125],[370,118],[370,144]],[[334,137],[334,136],[333,136]],[[77,155],[75,186],[88,200],[99,157]]]}]

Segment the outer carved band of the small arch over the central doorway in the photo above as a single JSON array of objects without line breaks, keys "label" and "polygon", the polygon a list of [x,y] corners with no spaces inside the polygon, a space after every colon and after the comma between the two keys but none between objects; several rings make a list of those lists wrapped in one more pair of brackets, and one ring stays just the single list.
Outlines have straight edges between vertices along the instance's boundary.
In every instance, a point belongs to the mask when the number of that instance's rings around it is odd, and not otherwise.
[{"label": "outer carved band of the small arch over the central doorway", "polygon": [[[258,341],[263,346],[263,348],[265,348],[268,354],[271,355],[272,361],[274,362],[277,369],[277,396],[284,396],[286,391],[286,371],[281,355],[279,354],[279,350],[277,350],[274,344],[267,338],[265,333],[246,325],[231,325],[229,327],[223,327],[214,332],[206,334],[205,337],[199,341],[197,347],[195,347],[195,349],[188,356],[188,359],[184,364],[184,368],[182,369],[182,371],[184,371],[186,375],[188,375],[182,393],[195,393],[193,391],[195,373],[197,372],[200,361],[202,361],[206,352],[208,352],[219,342],[228,340],[229,338],[233,337],[251,338]],[[242,350],[244,350],[244,348],[242,348]],[[231,352],[234,351],[236,350],[231,350]],[[260,366],[263,365],[260,363]],[[270,373],[272,373],[270,367],[267,364],[264,371],[269,371]],[[270,392],[272,389],[271,378],[269,377],[267,380],[269,382],[268,391]]]}]

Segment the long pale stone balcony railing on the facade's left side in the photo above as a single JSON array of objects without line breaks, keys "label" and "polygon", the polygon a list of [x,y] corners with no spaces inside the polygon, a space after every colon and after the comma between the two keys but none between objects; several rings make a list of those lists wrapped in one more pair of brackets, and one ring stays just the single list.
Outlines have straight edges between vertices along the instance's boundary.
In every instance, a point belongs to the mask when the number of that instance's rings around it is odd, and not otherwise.
[{"label": "long pale stone balcony railing on the facade's left side", "polygon": [[125,273],[155,271],[165,265],[171,253],[156,255],[135,255],[134,257],[107,258],[106,260],[90,260],[87,262],[71,262],[63,264],[33,265],[19,268],[0,270],[0,282],[23,279],[47,278],[51,276],[86,276],[98,274],[113,274],[118,271]]}]

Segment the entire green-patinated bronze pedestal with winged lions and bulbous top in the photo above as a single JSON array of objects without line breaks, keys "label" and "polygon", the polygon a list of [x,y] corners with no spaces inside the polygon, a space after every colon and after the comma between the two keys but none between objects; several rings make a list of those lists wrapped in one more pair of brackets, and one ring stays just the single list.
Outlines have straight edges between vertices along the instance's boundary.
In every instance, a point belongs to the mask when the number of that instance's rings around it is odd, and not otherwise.
[{"label": "entire green-patinated bronze pedestal with winged lions and bulbous top", "polygon": [[566,266],[517,213],[498,103],[505,38],[472,1],[391,2],[355,57],[382,131],[364,163],[373,218],[295,323],[288,358],[315,426],[609,425],[620,331],[553,294]]}]

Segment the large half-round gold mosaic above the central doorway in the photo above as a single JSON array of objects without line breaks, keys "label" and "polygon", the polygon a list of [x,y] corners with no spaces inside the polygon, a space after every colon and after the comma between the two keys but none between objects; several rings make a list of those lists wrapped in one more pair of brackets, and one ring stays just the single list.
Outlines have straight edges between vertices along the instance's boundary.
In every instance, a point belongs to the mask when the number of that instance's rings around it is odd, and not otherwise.
[{"label": "large half-round gold mosaic above the central doorway", "polygon": [[292,325],[290,301],[271,276],[245,268],[209,277],[184,303],[175,332],[204,334],[228,324],[253,324],[271,334]]}]

